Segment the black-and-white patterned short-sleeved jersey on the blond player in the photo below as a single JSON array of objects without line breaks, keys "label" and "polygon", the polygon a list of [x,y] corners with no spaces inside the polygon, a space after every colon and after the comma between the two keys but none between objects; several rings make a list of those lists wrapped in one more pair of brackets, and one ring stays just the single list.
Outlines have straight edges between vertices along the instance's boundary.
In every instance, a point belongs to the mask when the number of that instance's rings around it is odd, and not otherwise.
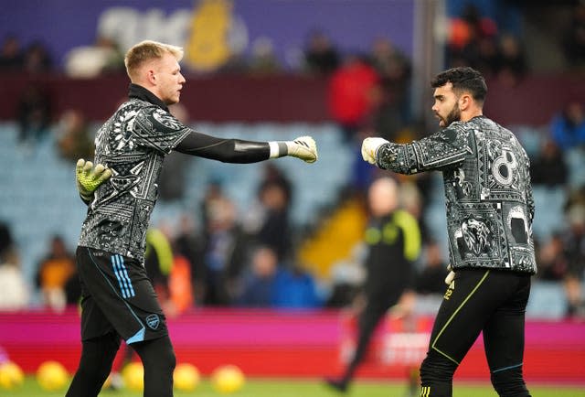
[{"label": "black-and-white patterned short-sleeved jersey on the blond player", "polygon": [[108,166],[112,177],[96,190],[80,246],[144,262],[163,160],[191,131],[154,94],[131,84],[129,101],[96,134],[95,163]]}]

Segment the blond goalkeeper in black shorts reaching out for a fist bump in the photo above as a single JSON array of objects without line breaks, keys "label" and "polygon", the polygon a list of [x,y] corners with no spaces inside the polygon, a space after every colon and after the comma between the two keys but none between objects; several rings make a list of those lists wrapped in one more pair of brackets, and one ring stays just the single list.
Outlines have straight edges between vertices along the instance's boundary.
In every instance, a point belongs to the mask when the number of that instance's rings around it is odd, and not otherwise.
[{"label": "blond goalkeeper in black shorts reaching out for a fist bump", "polygon": [[252,142],[198,133],[167,106],[179,102],[182,48],[143,41],[124,62],[129,99],[97,133],[95,163],[80,159],[77,186],[88,204],[76,252],[82,289],[79,368],[67,397],[97,396],[121,338],[142,359],[144,396],[173,395],[175,352],[165,315],[144,270],[145,234],[165,156],[175,150],[226,163],[293,156],[317,159],[310,136]]}]

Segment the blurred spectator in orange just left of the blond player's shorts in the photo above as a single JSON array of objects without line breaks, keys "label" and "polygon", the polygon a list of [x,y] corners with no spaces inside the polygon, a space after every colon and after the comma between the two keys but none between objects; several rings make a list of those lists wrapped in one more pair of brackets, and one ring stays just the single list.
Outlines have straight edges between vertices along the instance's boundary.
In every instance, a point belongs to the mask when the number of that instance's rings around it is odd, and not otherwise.
[{"label": "blurred spectator in orange just left of the blond player's shorts", "polygon": [[63,238],[53,235],[46,256],[38,264],[36,278],[46,306],[57,311],[66,306],[65,286],[74,274],[76,267],[73,255],[68,251]]}]

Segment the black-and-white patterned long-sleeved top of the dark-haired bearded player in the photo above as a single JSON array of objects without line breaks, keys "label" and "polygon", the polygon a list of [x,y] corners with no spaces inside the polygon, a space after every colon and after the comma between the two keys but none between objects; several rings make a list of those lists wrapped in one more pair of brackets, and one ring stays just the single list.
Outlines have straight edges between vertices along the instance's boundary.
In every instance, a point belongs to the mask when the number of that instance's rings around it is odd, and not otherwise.
[{"label": "black-and-white patterned long-sleeved top of the dark-haired bearded player", "polygon": [[377,163],[400,174],[442,172],[454,268],[537,272],[530,164],[510,131],[474,117],[410,144],[382,145]]}]

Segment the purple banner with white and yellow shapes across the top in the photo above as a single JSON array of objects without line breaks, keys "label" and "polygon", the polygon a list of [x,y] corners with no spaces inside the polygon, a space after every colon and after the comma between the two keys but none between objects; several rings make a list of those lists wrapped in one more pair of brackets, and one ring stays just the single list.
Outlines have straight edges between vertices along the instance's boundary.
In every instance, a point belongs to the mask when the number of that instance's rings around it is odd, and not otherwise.
[{"label": "purple banner with white and yellow shapes across the top", "polygon": [[100,36],[123,51],[147,38],[182,46],[198,70],[266,43],[294,69],[314,31],[343,53],[367,52],[374,39],[388,38],[412,54],[413,0],[27,0],[4,9],[11,11],[0,15],[0,39],[13,35],[25,46],[38,40],[58,66],[70,49]]}]

